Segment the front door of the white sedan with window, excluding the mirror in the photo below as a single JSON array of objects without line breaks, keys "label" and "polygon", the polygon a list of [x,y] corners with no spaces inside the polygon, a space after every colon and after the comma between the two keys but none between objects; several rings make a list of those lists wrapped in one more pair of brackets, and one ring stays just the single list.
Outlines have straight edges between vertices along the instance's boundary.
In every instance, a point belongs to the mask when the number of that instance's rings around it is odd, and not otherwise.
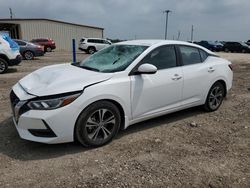
[{"label": "front door of the white sedan with window, excluding the mirror", "polygon": [[131,76],[134,119],[177,108],[182,98],[182,67],[178,66],[174,46],[167,45],[153,50],[139,65],[145,63],[155,65],[158,70],[155,74]]}]

